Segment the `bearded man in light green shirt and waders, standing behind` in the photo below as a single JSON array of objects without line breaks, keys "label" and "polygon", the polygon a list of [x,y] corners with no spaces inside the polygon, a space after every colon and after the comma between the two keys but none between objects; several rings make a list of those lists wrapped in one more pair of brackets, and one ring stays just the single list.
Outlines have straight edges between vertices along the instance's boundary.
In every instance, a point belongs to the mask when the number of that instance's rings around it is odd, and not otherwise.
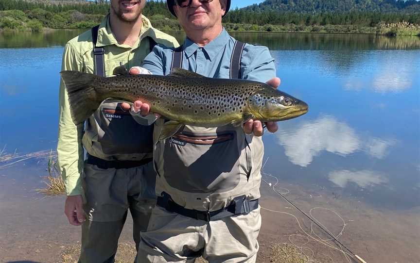
[{"label": "bearded man in light green shirt and waders, standing behind", "polygon": [[[110,76],[117,66],[140,65],[157,43],[178,46],[174,37],[154,29],[141,15],[144,5],[145,0],[111,0],[110,13],[99,27],[66,44],[62,70]],[[70,224],[82,225],[79,262],[114,262],[128,209],[138,246],[156,202],[152,129],[111,99],[85,125],[74,125],[61,81],[57,152],[66,186],[65,214]]]}]

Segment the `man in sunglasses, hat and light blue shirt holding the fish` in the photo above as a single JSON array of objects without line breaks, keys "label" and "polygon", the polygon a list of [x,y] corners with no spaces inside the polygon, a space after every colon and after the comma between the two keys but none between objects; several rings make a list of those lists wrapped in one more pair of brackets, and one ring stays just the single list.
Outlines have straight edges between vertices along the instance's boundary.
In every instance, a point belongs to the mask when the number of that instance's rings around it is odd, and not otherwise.
[{"label": "man in sunglasses, hat and light blue shirt holding the fish", "polygon": [[[151,73],[193,75],[173,70],[180,67],[206,77],[280,84],[266,47],[236,41],[223,28],[230,0],[167,0],[167,4],[187,38],[176,49],[157,45],[143,62]],[[133,105],[134,112],[149,113],[148,104]],[[262,123],[187,125],[158,141],[164,122],[163,118],[155,122],[157,206],[147,231],[141,233],[138,263],[192,263],[200,256],[210,263],[255,262],[261,227]],[[277,124],[267,123],[267,128],[274,132]]]}]

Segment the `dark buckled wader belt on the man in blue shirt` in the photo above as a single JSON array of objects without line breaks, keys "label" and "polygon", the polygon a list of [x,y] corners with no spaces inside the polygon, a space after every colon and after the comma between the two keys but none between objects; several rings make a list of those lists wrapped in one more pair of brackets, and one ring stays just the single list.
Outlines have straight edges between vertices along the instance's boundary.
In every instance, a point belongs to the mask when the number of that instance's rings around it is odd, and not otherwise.
[{"label": "dark buckled wader belt on the man in blue shirt", "polygon": [[186,209],[175,203],[167,193],[163,192],[161,197],[157,197],[157,205],[163,207],[166,211],[171,213],[181,214],[183,216],[209,222],[228,216],[248,214],[258,208],[259,199],[247,200],[245,198],[245,196],[236,197],[227,207],[210,212]]}]

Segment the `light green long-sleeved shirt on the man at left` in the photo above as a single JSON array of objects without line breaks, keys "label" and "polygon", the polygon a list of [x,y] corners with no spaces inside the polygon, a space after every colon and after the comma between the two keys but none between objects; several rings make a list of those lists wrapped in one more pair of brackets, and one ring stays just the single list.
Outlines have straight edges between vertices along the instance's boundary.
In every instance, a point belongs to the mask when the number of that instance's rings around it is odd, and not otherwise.
[{"label": "light green long-sleeved shirt on the man at left", "polygon": [[[105,48],[106,76],[110,76],[113,69],[120,66],[120,63],[127,69],[132,66],[140,66],[143,59],[150,52],[149,38],[146,36],[152,37],[158,44],[168,47],[179,46],[174,37],[153,28],[149,19],[145,16],[142,16],[142,19],[143,26],[140,36],[133,47],[118,44],[111,32],[109,15],[102,20],[98,30],[96,46]],[[67,42],[63,53],[62,70],[78,70],[93,73],[93,44],[90,30]],[[58,164],[61,168],[61,175],[68,196],[81,195],[83,193],[81,184],[84,164],[83,133],[83,125],[76,127],[71,120],[68,95],[61,80],[57,152]]]}]

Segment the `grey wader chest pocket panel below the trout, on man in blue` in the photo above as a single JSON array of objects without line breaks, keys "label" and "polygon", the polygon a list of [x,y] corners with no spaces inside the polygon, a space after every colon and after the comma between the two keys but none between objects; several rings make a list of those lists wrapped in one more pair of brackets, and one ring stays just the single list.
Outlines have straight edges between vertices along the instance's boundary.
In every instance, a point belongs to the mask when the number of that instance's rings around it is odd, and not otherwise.
[{"label": "grey wader chest pocket panel below the trout, on man in blue", "polygon": [[239,183],[240,157],[236,131],[205,135],[184,131],[165,143],[165,179],[184,192],[225,192]]}]

